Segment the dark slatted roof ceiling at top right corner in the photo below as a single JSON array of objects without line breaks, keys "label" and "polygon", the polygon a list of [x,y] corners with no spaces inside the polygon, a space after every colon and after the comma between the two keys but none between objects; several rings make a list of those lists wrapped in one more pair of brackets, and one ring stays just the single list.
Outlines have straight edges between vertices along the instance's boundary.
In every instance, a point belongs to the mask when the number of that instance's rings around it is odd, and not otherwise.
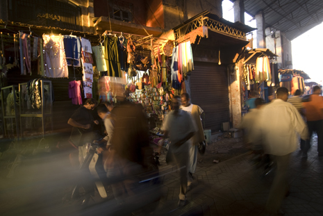
[{"label": "dark slatted roof ceiling at top right corner", "polygon": [[323,0],[244,0],[244,3],[246,13],[255,17],[263,12],[265,28],[283,31],[288,40],[323,22]]}]

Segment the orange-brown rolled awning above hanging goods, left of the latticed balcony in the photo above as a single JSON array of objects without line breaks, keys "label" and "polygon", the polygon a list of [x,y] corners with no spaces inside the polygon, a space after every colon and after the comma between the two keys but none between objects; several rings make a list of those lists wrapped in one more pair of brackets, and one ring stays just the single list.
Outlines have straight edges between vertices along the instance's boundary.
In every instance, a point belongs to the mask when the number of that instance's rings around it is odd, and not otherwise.
[{"label": "orange-brown rolled awning above hanging goods, left of the latticed balcony", "polygon": [[[104,31],[110,31],[110,22],[111,22],[111,30],[114,32],[125,32],[129,34],[135,35],[154,35],[154,37],[160,36],[163,31],[161,28],[153,28],[147,26],[141,26],[139,24],[133,24],[129,22],[122,22],[116,19],[110,19],[108,17],[99,17],[96,21],[94,21],[94,27],[97,28],[97,32],[99,34]],[[147,34],[148,33],[148,34]]]}]

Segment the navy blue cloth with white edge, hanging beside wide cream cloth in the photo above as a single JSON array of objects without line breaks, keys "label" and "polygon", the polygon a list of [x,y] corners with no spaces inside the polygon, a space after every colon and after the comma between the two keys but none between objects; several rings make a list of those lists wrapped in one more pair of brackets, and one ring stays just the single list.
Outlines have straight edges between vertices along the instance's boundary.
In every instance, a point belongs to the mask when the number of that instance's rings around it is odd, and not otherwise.
[{"label": "navy blue cloth with white edge, hanging beside wide cream cloth", "polygon": [[64,35],[67,66],[81,67],[81,40],[74,35]]}]

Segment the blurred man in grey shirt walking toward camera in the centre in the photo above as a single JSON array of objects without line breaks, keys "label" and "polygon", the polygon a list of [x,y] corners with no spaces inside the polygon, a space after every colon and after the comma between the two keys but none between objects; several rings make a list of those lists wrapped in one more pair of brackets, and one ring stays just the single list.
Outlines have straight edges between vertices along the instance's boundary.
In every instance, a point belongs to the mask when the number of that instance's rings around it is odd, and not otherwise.
[{"label": "blurred man in grey shirt walking toward camera in the centre", "polygon": [[189,113],[180,110],[181,97],[172,99],[172,112],[165,117],[163,124],[164,138],[169,136],[169,151],[172,153],[176,165],[180,169],[179,206],[186,204],[186,192],[188,188],[188,149],[189,140],[197,131]]}]

